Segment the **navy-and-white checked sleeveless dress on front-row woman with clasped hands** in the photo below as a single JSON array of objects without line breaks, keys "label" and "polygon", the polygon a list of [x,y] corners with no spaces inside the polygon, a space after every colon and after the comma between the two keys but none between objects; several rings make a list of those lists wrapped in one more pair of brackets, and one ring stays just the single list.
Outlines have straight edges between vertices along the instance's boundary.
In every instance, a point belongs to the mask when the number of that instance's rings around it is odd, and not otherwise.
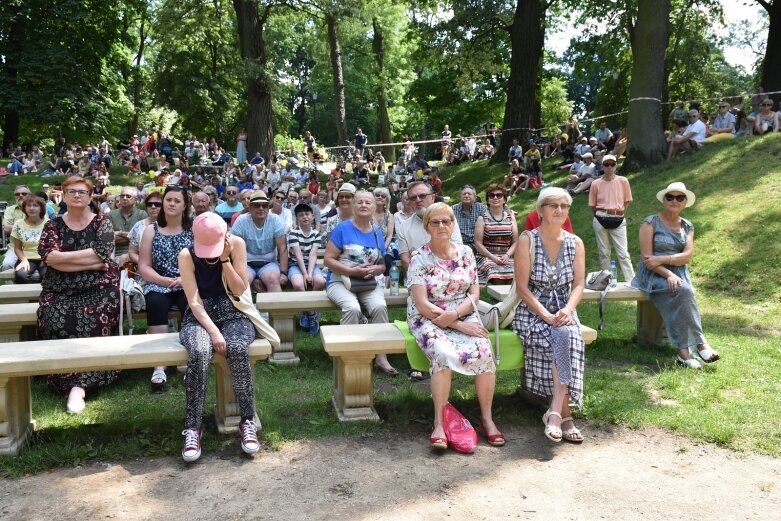
[{"label": "navy-and-white checked sleeveless dress on front-row woman with clasped hands", "polygon": [[[553,262],[543,247],[539,230],[534,229],[529,233],[534,237],[534,263],[529,273],[529,290],[545,309],[556,313],[567,305],[572,291],[577,237],[562,231],[564,243]],[[515,312],[513,331],[523,341],[524,388],[539,396],[552,396],[555,363],[559,380],[567,385],[573,402],[582,407],[586,346],[577,312],[573,311],[572,319],[575,324],[571,326],[553,327],[521,302]]]}]

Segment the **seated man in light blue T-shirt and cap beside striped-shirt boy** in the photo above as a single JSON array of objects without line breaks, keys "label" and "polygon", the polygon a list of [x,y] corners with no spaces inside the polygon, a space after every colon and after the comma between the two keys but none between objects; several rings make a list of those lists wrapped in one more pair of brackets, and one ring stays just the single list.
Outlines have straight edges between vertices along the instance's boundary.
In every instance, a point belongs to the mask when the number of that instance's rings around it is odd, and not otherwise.
[{"label": "seated man in light blue T-shirt and cap beside striped-shirt boy", "polygon": [[252,291],[282,291],[287,284],[288,269],[285,223],[269,212],[266,192],[256,190],[252,193],[249,213],[236,219],[231,233],[247,243],[247,281]]}]

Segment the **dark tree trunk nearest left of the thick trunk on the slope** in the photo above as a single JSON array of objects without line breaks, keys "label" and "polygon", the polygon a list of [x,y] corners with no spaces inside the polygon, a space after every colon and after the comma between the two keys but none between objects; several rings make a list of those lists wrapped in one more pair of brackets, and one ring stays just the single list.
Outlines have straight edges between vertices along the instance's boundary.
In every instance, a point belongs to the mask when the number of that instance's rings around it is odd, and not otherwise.
[{"label": "dark tree trunk nearest left of the thick trunk on the slope", "polygon": [[[511,56],[507,103],[499,149],[494,163],[505,162],[513,138],[525,143],[540,121],[539,71],[545,43],[545,10],[542,0],[518,0],[509,28]],[[515,130],[512,130],[515,129]]]}]

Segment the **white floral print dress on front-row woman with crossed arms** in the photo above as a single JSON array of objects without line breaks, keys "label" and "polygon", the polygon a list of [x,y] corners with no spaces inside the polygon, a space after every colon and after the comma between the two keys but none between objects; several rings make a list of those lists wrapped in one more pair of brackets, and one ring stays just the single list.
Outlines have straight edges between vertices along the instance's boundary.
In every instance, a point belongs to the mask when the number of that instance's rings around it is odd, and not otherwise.
[{"label": "white floral print dress on front-row woman with crossed arms", "polygon": [[[477,284],[477,269],[472,250],[463,244],[456,260],[443,260],[431,252],[429,244],[412,257],[407,285],[426,288],[429,302],[443,310],[455,309],[473,284]],[[466,321],[479,322],[477,314]],[[442,329],[424,317],[410,296],[407,301],[407,322],[412,335],[429,359],[429,371],[452,369],[461,374],[478,375],[496,372],[491,343],[487,338],[465,335],[454,329]]]}]

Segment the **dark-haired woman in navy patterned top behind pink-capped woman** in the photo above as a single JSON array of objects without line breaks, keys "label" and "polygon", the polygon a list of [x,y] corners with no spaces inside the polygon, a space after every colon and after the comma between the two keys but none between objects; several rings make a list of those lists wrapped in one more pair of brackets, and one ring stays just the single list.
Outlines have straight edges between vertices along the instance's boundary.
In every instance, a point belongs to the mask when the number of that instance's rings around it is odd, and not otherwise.
[{"label": "dark-haired woman in navy patterned top behind pink-capped woman", "polygon": [[[192,244],[190,192],[169,186],[157,221],[146,227],[138,247],[138,273],[146,281],[147,333],[167,333],[171,308],[176,306],[182,313],[187,309],[177,256]],[[152,389],[162,391],[166,382],[165,367],[155,367]]]}]

